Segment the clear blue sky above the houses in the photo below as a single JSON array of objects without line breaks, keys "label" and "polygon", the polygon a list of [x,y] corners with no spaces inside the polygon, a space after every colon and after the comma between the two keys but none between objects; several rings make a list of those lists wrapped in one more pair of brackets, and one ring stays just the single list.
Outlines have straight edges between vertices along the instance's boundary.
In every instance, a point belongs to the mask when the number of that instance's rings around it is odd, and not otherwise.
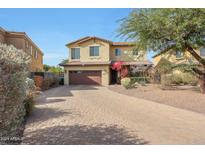
[{"label": "clear blue sky above the houses", "polygon": [[[119,20],[131,9],[0,9],[0,27],[26,34],[43,51],[43,63],[56,66],[68,58],[68,42],[85,36],[111,41],[117,37]],[[148,54],[151,60],[152,54]]]}]

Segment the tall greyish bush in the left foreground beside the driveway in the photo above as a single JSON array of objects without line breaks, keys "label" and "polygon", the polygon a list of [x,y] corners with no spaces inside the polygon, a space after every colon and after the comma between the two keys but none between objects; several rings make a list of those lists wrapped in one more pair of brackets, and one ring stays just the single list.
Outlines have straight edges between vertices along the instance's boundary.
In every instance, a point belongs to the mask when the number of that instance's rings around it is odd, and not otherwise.
[{"label": "tall greyish bush in the left foreground beside the driveway", "polygon": [[24,120],[29,63],[24,51],[0,44],[0,137],[17,136]]}]

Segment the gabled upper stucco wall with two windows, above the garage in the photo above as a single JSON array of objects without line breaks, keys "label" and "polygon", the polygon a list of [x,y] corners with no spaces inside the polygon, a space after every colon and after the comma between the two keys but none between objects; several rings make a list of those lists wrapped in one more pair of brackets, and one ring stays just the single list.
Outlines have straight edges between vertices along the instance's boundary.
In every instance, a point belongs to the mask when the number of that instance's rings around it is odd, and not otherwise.
[{"label": "gabled upper stucco wall with two windows, above the garage", "polygon": [[[90,46],[99,46],[99,56],[91,57],[90,54]],[[81,62],[102,62],[102,61],[109,61],[109,51],[110,45],[106,42],[100,40],[90,40],[86,41],[81,44],[73,44],[69,46],[69,56],[71,55],[71,48],[80,48],[80,60]],[[72,60],[69,57],[69,61],[76,61]]]}]

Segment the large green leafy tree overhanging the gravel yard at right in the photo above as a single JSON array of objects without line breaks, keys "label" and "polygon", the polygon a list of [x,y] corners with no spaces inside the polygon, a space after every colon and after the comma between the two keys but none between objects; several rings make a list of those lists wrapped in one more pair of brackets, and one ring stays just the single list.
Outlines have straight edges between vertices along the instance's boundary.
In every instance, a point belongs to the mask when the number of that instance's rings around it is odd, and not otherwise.
[{"label": "large green leafy tree overhanging the gravel yard at right", "polygon": [[188,51],[202,66],[193,71],[205,93],[205,60],[196,52],[205,47],[205,9],[136,9],[121,20],[118,30],[145,51]]}]

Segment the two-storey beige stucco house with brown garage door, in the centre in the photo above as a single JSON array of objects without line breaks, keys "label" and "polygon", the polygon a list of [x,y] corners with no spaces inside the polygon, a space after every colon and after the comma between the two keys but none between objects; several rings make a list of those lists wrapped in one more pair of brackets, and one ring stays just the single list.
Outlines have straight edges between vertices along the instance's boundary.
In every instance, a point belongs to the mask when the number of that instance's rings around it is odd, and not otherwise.
[{"label": "two-storey beige stucco house with brown garage door, in the centre", "polygon": [[[69,48],[69,60],[64,66],[65,84],[116,83],[119,70],[112,66],[120,62],[122,67],[148,66],[146,54],[135,51],[130,42],[112,42],[99,37],[84,37],[66,45]],[[123,62],[123,63],[122,63]]]}]

